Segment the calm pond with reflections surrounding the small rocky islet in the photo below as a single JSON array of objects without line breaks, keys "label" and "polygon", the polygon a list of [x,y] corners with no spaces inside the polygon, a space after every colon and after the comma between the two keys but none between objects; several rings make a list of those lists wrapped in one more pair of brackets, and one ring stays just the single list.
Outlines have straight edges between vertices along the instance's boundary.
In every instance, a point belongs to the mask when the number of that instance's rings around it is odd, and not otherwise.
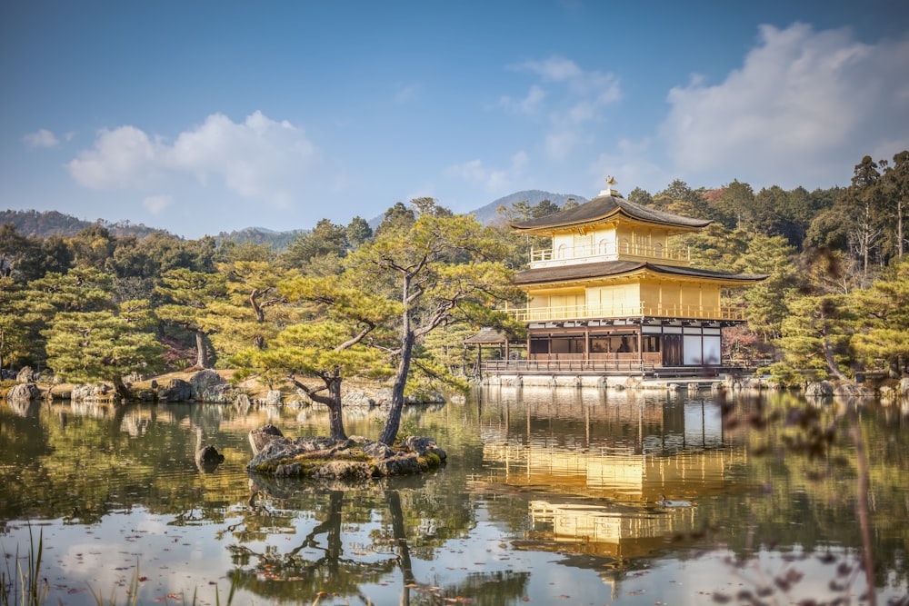
[{"label": "calm pond with reflections surrounding the small rocky islet", "polygon": [[[345,427],[375,439],[384,417]],[[0,404],[7,601],[40,551],[48,604],[857,604],[868,544],[874,599],[909,603],[905,405],[477,388],[405,411],[444,468],[368,485],[248,474],[266,422],[328,426],[315,408]],[[208,444],[225,462],[205,473]]]}]

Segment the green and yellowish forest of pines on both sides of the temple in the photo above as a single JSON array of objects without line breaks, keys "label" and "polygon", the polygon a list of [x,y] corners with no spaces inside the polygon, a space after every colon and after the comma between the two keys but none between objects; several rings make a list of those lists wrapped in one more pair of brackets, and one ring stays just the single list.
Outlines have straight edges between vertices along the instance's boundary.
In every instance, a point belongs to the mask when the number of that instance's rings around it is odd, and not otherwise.
[{"label": "green and yellowish forest of pines on both sides of the temple", "polygon": [[[784,385],[906,373],[909,151],[865,156],[846,187],[755,193],[737,180],[718,189],[676,180],[626,197],[713,220],[678,236],[694,265],[769,274],[724,293],[748,321],[724,329],[727,360],[761,361]],[[125,396],[125,377],[190,367],[291,381],[328,402],[353,377],[394,378],[396,395],[463,386],[474,359],[466,336],[481,326],[522,334],[495,311],[523,303],[510,279],[534,245],[508,221],[557,210],[514,204],[483,225],[419,198],[392,205],[375,231],[362,217],[322,219],[284,248],[118,235],[100,221],[40,237],[5,223],[0,370],[113,382]]]}]

